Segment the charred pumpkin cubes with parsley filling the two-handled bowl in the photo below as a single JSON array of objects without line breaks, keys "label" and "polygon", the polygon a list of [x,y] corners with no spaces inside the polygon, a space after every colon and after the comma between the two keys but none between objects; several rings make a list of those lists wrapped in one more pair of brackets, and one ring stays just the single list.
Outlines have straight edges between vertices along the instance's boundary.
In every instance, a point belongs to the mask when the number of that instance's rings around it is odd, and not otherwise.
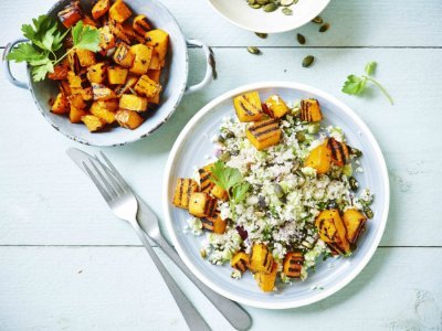
[{"label": "charred pumpkin cubes with parsley filling the two-handled bowl", "polygon": [[116,125],[134,130],[160,103],[169,34],[152,28],[146,15],[131,19],[129,4],[98,0],[86,12],[71,1],[57,13],[65,29],[41,15],[34,26],[23,25],[30,43],[8,55],[28,62],[35,82],[46,76],[56,82],[51,111],[83,122],[91,132]]}]

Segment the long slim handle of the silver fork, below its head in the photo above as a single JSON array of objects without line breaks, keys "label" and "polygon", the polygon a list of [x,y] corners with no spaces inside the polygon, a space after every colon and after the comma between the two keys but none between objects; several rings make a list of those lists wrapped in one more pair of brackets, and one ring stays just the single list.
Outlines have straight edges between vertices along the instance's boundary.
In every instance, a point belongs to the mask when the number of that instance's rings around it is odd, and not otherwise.
[{"label": "long slim handle of the silver fork, below its head", "polygon": [[192,302],[185,296],[181,289],[178,287],[177,282],[166,269],[161,260],[158,258],[157,254],[155,253],[154,248],[150,246],[149,242],[147,241],[143,229],[139,227],[139,224],[136,220],[130,222],[131,226],[134,227],[138,238],[141,241],[143,245],[145,246],[147,253],[149,253],[150,258],[152,259],[155,266],[159,270],[165,280],[167,287],[169,288],[171,295],[173,296],[175,300],[181,313],[191,331],[200,331],[200,330],[208,330],[210,331],[210,327],[204,321],[202,316],[198,312],[198,310],[193,307]]}]

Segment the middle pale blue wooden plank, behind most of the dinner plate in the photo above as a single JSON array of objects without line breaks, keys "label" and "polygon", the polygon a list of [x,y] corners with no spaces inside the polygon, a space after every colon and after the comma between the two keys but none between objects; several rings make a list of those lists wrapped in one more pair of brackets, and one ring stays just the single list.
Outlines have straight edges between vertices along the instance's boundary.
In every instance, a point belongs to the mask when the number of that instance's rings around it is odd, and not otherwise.
[{"label": "middle pale blue wooden plank, behind most of the dinner plate", "polygon": [[[215,96],[246,83],[298,81],[329,92],[368,124],[387,159],[391,210],[382,245],[442,245],[438,196],[442,186],[442,96],[439,90],[442,50],[215,50],[219,79],[185,97],[173,117],[150,138],[105,149],[127,181],[161,215],[162,170],[169,150],[190,117]],[[234,58],[234,61],[233,61]],[[278,58],[269,63],[269,60]],[[202,74],[202,55],[191,51],[191,82]],[[393,107],[375,89],[361,98],[340,93],[349,73],[361,73],[367,61],[379,61],[377,77],[396,100]],[[244,65],[248,63],[249,65]],[[259,70],[256,70],[259,68]],[[0,121],[1,245],[127,245],[138,239],[110,215],[95,188],[64,153],[77,146],[48,126],[30,95],[1,83],[4,114]]]}]

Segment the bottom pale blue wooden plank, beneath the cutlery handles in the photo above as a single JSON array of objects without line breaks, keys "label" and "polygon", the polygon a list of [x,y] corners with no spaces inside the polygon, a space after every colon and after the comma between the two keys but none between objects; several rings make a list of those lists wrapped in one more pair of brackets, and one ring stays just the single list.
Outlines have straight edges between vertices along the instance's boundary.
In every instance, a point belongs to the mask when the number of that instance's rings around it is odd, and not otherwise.
[{"label": "bottom pale blue wooden plank, beneath the cutlery handles", "polygon": [[[297,330],[439,330],[442,265],[434,261],[441,259],[442,248],[378,249],[350,285],[318,303],[280,311],[246,308],[252,330],[269,330],[275,322],[281,330],[294,323]],[[1,247],[0,265],[3,331],[186,329],[143,248]],[[213,330],[231,330],[170,269]],[[424,270],[431,273],[423,281]]]}]

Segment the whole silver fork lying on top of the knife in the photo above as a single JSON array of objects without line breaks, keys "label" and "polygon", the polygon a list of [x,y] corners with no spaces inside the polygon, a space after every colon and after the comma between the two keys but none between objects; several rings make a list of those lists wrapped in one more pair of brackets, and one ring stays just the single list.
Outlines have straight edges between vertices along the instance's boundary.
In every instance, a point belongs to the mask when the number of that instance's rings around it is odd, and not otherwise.
[{"label": "whole silver fork lying on top of the knife", "polygon": [[[103,154],[102,154],[103,156]],[[98,160],[96,158],[96,160]],[[106,161],[106,159],[105,159]],[[147,241],[143,229],[140,228],[137,221],[137,212],[138,212],[138,201],[135,197],[135,194],[127,185],[127,183],[123,180],[122,177],[117,177],[110,172],[107,167],[105,167],[99,160],[98,167],[95,166],[95,162],[91,161],[91,164],[95,171],[95,174],[91,168],[83,162],[83,167],[86,170],[87,174],[94,182],[95,186],[98,189],[99,193],[102,193],[104,200],[114,212],[114,214],[127,221],[135,229],[138,238],[141,241],[143,245],[146,247],[146,250],[149,253],[150,258],[154,264],[158,268],[161,274],[167,287],[169,288],[171,295],[181,313],[189,327],[190,330],[210,330],[210,327],[206,323],[204,319],[198,312],[198,310],[193,307],[190,300],[185,296],[181,289],[178,287],[177,282],[170,276],[169,271],[165,268],[161,260],[156,255],[154,248],[150,246]],[[99,179],[98,179],[99,178]]]}]

